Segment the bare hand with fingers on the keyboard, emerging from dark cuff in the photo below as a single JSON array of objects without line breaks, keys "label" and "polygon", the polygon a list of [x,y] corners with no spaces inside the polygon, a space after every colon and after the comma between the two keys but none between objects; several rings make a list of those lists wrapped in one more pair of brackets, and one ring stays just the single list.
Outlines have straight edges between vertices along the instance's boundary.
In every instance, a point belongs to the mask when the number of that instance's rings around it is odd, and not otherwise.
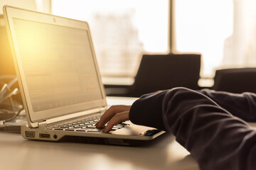
[{"label": "bare hand with fingers on the keyboard, emerging from dark cuff", "polygon": [[130,108],[131,106],[126,105],[111,106],[103,113],[99,122],[95,124],[96,128],[103,128],[107,123],[102,132],[110,132],[114,125],[129,120]]}]

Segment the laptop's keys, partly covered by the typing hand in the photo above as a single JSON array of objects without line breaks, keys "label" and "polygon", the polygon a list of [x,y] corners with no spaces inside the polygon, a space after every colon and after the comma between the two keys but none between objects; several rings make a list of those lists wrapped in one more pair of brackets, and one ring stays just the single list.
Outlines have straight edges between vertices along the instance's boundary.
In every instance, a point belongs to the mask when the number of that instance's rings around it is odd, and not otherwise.
[{"label": "laptop's keys, partly covered by the typing hand", "polygon": [[[65,123],[58,123],[54,125],[46,125],[47,130],[67,130],[77,132],[102,132],[103,128],[96,128],[95,124],[100,120],[100,115],[94,118],[86,118],[80,120],[71,120]],[[129,124],[119,123],[114,125],[112,131],[124,128]]]}]

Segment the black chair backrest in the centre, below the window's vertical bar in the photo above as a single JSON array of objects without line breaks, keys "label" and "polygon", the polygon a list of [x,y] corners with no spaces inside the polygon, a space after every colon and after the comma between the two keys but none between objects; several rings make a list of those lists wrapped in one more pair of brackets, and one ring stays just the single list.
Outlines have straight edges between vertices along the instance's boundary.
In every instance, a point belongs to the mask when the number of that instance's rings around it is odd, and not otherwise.
[{"label": "black chair backrest in the centre, below the window's vertical bar", "polygon": [[183,86],[198,89],[200,54],[143,55],[129,96]]}]

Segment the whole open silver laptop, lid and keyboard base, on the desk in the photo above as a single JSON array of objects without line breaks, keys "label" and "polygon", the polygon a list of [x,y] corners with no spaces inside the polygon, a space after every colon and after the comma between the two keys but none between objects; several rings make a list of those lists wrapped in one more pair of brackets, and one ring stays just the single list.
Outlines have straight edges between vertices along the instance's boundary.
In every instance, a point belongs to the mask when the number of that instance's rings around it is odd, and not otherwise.
[{"label": "whole open silver laptop, lid and keyboard base, on the desk", "polygon": [[140,145],[163,131],[134,125],[95,128],[107,109],[88,23],[3,7],[30,140]]}]

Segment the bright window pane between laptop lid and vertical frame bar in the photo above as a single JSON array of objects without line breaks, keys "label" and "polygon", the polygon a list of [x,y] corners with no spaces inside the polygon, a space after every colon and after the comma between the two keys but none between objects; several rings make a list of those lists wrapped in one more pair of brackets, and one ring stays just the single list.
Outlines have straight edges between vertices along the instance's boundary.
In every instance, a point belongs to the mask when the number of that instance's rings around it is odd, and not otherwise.
[{"label": "bright window pane between laptop lid and vertical frame bar", "polygon": [[143,53],[169,50],[169,0],[52,0],[52,13],[89,23],[103,76],[130,77]]}]

